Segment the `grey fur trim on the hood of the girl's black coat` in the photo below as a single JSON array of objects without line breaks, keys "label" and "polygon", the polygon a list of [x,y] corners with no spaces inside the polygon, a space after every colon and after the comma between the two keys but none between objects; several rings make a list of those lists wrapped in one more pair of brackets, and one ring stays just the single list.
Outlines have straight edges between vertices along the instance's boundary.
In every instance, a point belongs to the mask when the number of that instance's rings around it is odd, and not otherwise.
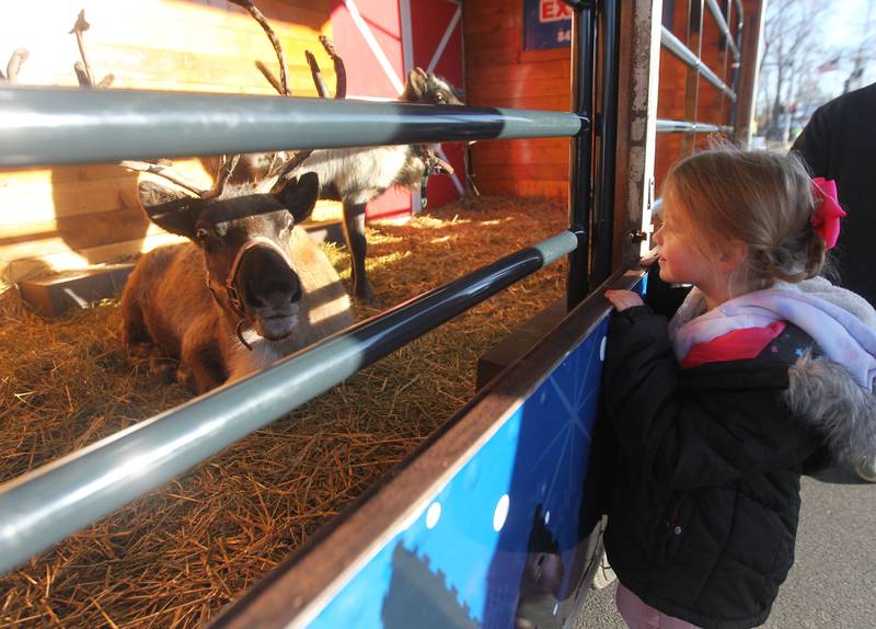
[{"label": "grey fur trim on the hood of the girl's black coat", "polygon": [[876,396],[827,358],[802,356],[785,393],[795,416],[825,435],[834,460],[853,470],[876,461]]}]

